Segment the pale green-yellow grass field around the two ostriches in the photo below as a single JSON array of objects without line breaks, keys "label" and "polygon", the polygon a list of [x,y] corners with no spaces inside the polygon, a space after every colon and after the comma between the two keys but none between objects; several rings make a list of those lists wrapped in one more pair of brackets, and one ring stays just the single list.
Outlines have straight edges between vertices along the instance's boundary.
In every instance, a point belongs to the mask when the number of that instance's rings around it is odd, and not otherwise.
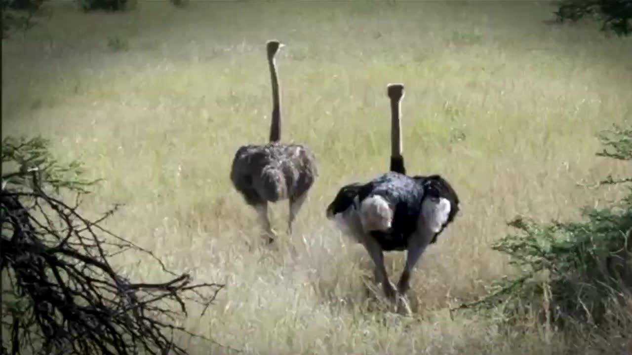
[{"label": "pale green-yellow grass field around the two ostriches", "polygon": [[[52,16],[3,40],[3,136],[51,138],[57,156],[106,179],[88,213],[125,203],[114,231],[169,267],[226,282],[212,312],[188,320],[194,331],[253,354],[609,349],[590,333],[451,320],[447,309],[511,272],[489,246],[515,214],[565,220],[622,196],[575,183],[632,172],[595,156],[595,133],[632,119],[629,39],[604,39],[595,23],[545,25],[554,7],[522,1],[139,2],[116,14],[44,6]],[[112,51],[111,39],[126,50]],[[278,250],[262,246],[255,213],[229,181],[236,149],[268,136],[269,39],[287,45],[277,58],[283,140],[310,146],[320,168],[295,236],[281,236]],[[324,217],[341,184],[387,169],[386,85],[398,82],[408,170],[446,176],[463,204],[418,265],[413,318],[367,296],[366,252]],[[284,230],[287,205],[273,210]],[[387,255],[392,279],[403,260]],[[135,279],[164,277],[145,260],[116,262]]]}]

